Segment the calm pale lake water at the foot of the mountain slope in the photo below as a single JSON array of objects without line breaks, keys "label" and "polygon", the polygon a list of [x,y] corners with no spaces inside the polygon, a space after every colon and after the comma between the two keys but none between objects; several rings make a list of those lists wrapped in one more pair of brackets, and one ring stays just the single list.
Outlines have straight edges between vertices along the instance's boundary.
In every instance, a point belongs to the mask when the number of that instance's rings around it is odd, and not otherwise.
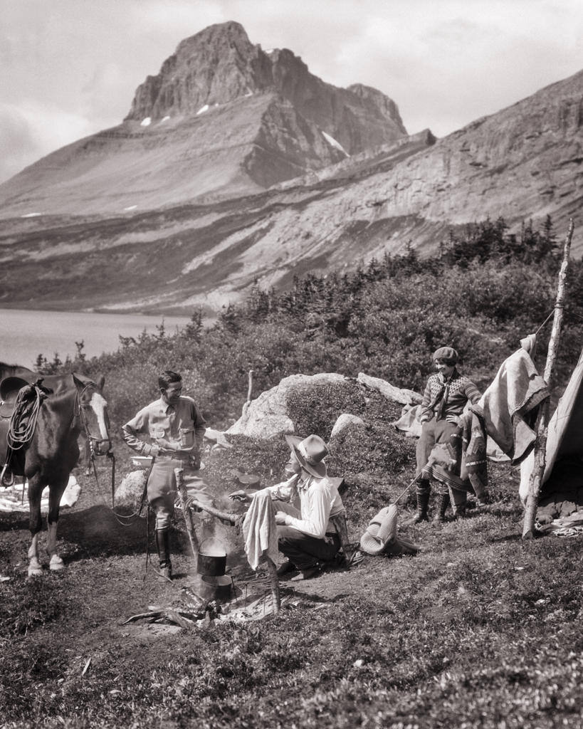
[{"label": "calm pale lake water at the foot of the mountain slope", "polygon": [[166,333],[173,334],[189,317],[0,309],[0,362],[34,367],[38,354],[52,360],[55,352],[64,360],[68,354],[74,357],[80,341],[88,357],[98,356],[116,351],[120,335],[155,332],[163,320]]}]

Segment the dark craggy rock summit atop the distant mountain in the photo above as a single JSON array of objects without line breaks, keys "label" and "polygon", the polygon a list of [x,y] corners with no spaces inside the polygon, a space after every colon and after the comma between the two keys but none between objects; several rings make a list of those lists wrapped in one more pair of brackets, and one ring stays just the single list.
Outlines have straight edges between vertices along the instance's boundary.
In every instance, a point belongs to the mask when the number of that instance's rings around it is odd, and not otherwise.
[{"label": "dark craggy rock summit atop the distant mountain", "polygon": [[193,117],[258,93],[289,101],[348,154],[407,134],[396,104],[380,91],[326,84],[291,50],[266,53],[252,44],[243,26],[232,20],[184,39],[160,73],[138,87],[125,120]]}]

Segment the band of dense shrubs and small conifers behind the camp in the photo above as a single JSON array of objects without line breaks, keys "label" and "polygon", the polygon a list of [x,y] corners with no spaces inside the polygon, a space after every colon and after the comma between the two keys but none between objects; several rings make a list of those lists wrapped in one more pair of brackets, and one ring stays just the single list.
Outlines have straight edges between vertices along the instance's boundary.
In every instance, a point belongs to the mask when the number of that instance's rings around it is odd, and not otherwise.
[{"label": "band of dense shrubs and small conifers behind the camp", "polygon": [[[47,362],[45,372],[78,369],[106,375],[114,422],[157,394],[157,373],[182,373],[214,427],[228,426],[246,399],[249,370],[254,395],[294,373],[359,372],[396,386],[422,389],[431,353],[447,343],[460,369],[484,388],[525,335],[536,332],[555,304],[560,252],[547,219],[517,238],[504,220],[469,226],[438,257],[373,260],[353,273],[294,278],[283,293],[254,289],[229,305],[211,328],[202,312],[179,334],[163,324],[154,335],[122,339],[111,355],[88,361]],[[550,324],[538,335],[535,362],[544,369]],[[571,261],[557,381],[564,383],[583,341],[583,266]]]}]

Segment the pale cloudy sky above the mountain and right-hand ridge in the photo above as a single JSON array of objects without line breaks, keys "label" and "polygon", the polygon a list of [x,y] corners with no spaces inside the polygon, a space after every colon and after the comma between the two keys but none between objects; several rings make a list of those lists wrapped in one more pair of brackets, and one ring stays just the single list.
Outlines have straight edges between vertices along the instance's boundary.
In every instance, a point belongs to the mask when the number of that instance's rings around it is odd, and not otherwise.
[{"label": "pale cloudy sky above the mountain and right-hand ridge", "polygon": [[0,0],[0,182],[118,124],[179,42],[238,20],[437,136],[583,69],[581,0]]}]

